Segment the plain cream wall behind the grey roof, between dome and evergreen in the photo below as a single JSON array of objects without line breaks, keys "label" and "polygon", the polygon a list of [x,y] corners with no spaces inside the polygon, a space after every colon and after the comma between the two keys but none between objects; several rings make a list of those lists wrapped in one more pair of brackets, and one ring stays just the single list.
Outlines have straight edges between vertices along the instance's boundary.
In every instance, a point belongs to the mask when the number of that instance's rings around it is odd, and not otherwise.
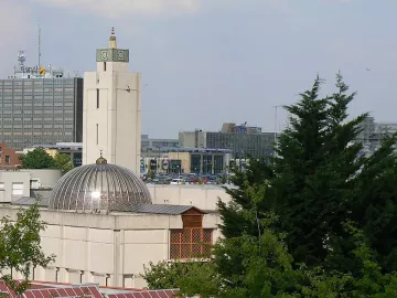
[{"label": "plain cream wall behind the grey roof, between dome and evergreen", "polygon": [[224,189],[214,185],[148,185],[153,204],[194,205],[201,210],[216,210],[218,199],[232,199]]}]

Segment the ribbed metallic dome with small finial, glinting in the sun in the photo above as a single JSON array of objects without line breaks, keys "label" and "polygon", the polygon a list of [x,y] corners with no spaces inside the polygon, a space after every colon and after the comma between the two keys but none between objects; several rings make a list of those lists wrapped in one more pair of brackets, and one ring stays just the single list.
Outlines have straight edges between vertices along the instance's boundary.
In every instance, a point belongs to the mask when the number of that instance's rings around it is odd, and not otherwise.
[{"label": "ribbed metallic dome with small finial, glinting in the sun", "polygon": [[111,211],[125,204],[151,204],[147,185],[132,171],[107,163],[100,157],[94,164],[73,169],[63,175],[50,198],[52,210]]}]

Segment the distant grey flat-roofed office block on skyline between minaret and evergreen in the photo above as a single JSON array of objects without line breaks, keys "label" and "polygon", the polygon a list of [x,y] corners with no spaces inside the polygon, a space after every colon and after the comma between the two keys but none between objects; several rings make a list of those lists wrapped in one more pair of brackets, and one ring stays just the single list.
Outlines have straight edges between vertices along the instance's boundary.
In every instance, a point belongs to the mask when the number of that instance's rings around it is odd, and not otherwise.
[{"label": "distant grey flat-roofed office block on skyline between minaret and evergreen", "polygon": [[273,152],[275,132],[261,132],[246,124],[224,124],[221,131],[183,131],[179,134],[181,147],[229,149],[233,159],[265,158]]}]

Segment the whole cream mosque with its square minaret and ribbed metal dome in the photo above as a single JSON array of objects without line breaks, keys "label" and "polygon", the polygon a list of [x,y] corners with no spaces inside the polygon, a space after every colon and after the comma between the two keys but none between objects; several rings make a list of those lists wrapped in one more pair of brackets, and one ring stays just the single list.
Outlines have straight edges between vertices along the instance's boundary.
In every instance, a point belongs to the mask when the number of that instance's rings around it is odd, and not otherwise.
[{"label": "whole cream mosque with its square minaret and ribbed metal dome", "polygon": [[143,288],[144,265],[203,257],[221,236],[219,195],[167,185],[170,200],[154,202],[140,179],[140,74],[129,73],[128,62],[112,30],[109,49],[97,50],[97,72],[84,76],[84,164],[64,174],[49,200],[30,195],[0,206],[0,217],[41,206],[42,247],[56,258],[34,268],[32,280]]}]

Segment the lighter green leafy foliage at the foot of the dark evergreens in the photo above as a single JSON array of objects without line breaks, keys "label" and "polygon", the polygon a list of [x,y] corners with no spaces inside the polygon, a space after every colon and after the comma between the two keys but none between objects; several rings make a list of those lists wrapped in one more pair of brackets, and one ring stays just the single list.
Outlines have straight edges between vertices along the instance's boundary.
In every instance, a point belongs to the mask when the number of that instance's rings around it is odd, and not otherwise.
[{"label": "lighter green leafy foliage at the foot of the dark evergreens", "polygon": [[[271,222],[273,217],[268,216],[262,224],[268,226]],[[223,280],[218,296],[397,297],[397,274],[383,274],[364,233],[352,223],[344,224],[344,227],[355,240],[352,257],[360,264],[361,276],[322,267],[308,268],[304,264],[293,265],[285,235],[265,228],[260,237],[243,235],[224,240],[215,246],[214,262]],[[230,267],[236,265],[239,273],[230,276]],[[226,270],[222,272],[222,268]]]}]

